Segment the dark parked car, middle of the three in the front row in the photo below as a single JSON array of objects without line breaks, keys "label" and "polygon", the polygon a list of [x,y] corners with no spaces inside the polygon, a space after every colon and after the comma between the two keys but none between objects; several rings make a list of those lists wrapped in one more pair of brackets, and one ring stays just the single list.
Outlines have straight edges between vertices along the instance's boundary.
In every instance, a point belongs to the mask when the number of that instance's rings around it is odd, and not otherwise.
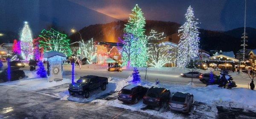
[{"label": "dark parked car, middle of the three in the front row", "polygon": [[171,92],[166,88],[152,86],[143,97],[143,103],[152,106],[162,106],[164,102],[169,101],[170,95]]}]

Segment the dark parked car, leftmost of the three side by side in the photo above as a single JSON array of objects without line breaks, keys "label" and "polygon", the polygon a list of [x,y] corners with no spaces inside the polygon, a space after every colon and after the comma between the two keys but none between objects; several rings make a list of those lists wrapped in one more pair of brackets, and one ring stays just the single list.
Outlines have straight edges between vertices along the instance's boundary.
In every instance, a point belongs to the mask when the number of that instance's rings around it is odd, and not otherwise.
[{"label": "dark parked car, leftmost of the three side by side", "polygon": [[145,93],[148,91],[148,88],[145,88],[140,85],[126,85],[119,92],[117,99],[122,102],[128,102],[136,104],[140,99],[143,98]]}]

